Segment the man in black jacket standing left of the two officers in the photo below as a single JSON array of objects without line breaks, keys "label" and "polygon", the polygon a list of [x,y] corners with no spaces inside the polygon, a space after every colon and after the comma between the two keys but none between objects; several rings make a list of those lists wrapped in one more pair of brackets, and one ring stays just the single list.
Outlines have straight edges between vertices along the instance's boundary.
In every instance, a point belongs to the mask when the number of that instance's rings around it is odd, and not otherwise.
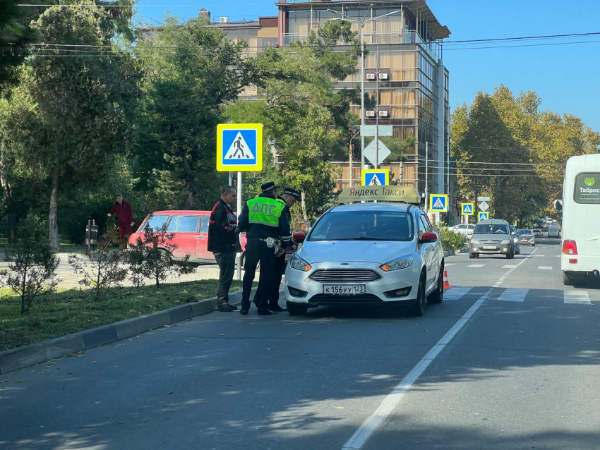
[{"label": "man in black jacket standing left of the two officers", "polygon": [[221,189],[221,200],[215,203],[208,225],[208,251],[215,255],[219,264],[219,289],[217,291],[217,309],[231,312],[237,309],[229,305],[229,288],[232,286],[235,272],[236,252],[239,248],[239,228],[232,211],[236,191],[232,186]]}]

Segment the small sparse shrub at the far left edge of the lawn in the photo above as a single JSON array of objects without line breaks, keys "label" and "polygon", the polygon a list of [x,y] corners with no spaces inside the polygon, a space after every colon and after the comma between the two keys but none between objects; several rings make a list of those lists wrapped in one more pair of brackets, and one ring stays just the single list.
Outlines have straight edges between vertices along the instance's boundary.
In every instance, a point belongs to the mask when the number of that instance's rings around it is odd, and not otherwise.
[{"label": "small sparse shrub at the far left edge of the lawn", "polygon": [[60,280],[56,268],[60,260],[52,254],[47,234],[39,219],[28,217],[21,226],[21,238],[6,249],[11,272],[0,274],[0,285],[11,288],[20,298],[21,314],[31,308],[35,298],[54,291]]}]

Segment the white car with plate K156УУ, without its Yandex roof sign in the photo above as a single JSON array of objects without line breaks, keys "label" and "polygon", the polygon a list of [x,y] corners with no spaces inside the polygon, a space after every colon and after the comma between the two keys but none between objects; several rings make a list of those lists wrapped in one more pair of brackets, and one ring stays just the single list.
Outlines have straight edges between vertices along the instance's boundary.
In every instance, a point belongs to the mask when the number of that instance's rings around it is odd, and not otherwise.
[{"label": "white car with plate K156\u0423\u0423, without its Yandex roof sign", "polygon": [[402,203],[355,203],[325,212],[285,272],[291,315],[318,305],[395,303],[420,316],[441,303],[444,253],[426,214]]}]

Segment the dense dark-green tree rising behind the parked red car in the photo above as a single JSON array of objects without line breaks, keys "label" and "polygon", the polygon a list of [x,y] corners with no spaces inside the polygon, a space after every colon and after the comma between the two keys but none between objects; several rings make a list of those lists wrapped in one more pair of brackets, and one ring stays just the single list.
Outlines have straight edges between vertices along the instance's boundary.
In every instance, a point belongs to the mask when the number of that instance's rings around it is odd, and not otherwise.
[{"label": "dense dark-green tree rising behind the parked red car", "polygon": [[184,209],[208,207],[215,182],[224,180],[215,171],[215,130],[223,104],[248,83],[245,43],[207,24],[167,17],[156,39],[136,47],[147,79],[133,150],[134,168],[144,175],[140,189],[161,190]]}]

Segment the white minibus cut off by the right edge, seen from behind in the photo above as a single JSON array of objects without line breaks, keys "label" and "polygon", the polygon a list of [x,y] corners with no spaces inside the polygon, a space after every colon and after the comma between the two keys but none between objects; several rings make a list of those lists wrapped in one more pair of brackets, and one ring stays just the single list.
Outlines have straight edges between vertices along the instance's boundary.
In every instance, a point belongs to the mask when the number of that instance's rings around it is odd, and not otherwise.
[{"label": "white minibus cut off by the right edge, seen from behind", "polygon": [[600,154],[568,160],[563,202],[555,205],[563,213],[563,284],[600,278]]}]

